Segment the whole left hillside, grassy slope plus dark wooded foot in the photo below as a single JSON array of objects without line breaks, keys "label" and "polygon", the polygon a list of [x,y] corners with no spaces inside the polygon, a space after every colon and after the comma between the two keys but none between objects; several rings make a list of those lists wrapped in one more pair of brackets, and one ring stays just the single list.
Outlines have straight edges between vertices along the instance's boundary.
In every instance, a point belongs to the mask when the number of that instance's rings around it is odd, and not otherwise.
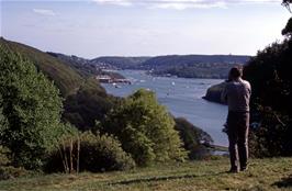
[{"label": "whole left hillside, grassy slope plus dark wooded foot", "polygon": [[63,121],[70,122],[79,130],[89,130],[94,126],[97,120],[102,120],[113,106],[115,98],[106,94],[105,89],[94,78],[94,75],[87,72],[86,68],[78,69],[78,61],[63,60],[31,46],[2,37],[0,37],[0,46],[21,54],[54,81],[65,98]]}]

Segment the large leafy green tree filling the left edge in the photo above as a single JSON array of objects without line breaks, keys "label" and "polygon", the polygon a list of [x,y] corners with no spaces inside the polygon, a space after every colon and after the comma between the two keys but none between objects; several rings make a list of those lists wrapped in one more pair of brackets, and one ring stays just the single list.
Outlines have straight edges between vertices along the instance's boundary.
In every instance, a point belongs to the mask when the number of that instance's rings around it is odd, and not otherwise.
[{"label": "large leafy green tree filling the left edge", "polygon": [[4,43],[0,58],[0,145],[11,150],[14,166],[35,169],[63,132],[59,91]]}]

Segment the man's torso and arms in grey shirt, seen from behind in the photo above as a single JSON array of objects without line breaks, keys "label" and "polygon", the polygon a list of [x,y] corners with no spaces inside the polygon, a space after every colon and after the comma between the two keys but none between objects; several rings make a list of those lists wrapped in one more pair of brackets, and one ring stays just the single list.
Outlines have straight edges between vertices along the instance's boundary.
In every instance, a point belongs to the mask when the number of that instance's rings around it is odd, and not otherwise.
[{"label": "man's torso and arms in grey shirt, seen from behind", "polygon": [[251,88],[248,81],[238,79],[227,82],[222,99],[227,101],[228,111],[248,112]]}]

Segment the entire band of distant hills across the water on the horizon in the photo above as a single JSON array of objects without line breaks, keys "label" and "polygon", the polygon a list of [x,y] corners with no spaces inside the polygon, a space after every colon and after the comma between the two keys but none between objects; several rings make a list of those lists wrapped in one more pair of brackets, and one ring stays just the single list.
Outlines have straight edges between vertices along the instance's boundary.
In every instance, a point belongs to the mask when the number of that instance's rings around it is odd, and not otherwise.
[{"label": "entire band of distant hills across the water on the horizon", "polygon": [[227,78],[235,65],[246,64],[250,56],[240,55],[166,55],[155,57],[99,57],[90,64],[109,69],[144,69],[154,75],[183,78]]}]

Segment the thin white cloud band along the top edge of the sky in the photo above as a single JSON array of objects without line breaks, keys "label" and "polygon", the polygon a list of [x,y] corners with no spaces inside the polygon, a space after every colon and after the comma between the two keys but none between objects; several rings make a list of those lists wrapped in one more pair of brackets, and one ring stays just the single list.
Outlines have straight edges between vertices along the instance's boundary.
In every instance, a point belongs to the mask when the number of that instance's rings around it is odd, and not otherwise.
[{"label": "thin white cloud band along the top edge of the sky", "polygon": [[92,0],[99,4],[143,5],[150,9],[210,9],[240,3],[281,3],[281,0]]}]

